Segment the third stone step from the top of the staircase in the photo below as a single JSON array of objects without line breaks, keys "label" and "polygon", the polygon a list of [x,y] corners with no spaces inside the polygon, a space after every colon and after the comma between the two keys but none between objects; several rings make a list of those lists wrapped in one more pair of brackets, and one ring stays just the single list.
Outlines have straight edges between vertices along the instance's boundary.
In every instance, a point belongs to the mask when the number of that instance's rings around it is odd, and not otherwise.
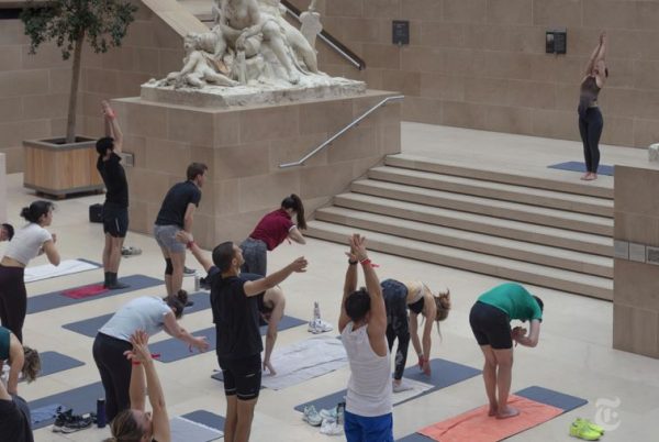
[{"label": "third stone step from the top of the staircase", "polygon": [[610,237],[613,236],[613,220],[605,217],[576,213],[373,179],[360,179],[354,181],[350,186],[350,190],[357,194],[372,195],[432,207],[459,210],[462,212],[478,213],[488,217],[548,225]]}]

